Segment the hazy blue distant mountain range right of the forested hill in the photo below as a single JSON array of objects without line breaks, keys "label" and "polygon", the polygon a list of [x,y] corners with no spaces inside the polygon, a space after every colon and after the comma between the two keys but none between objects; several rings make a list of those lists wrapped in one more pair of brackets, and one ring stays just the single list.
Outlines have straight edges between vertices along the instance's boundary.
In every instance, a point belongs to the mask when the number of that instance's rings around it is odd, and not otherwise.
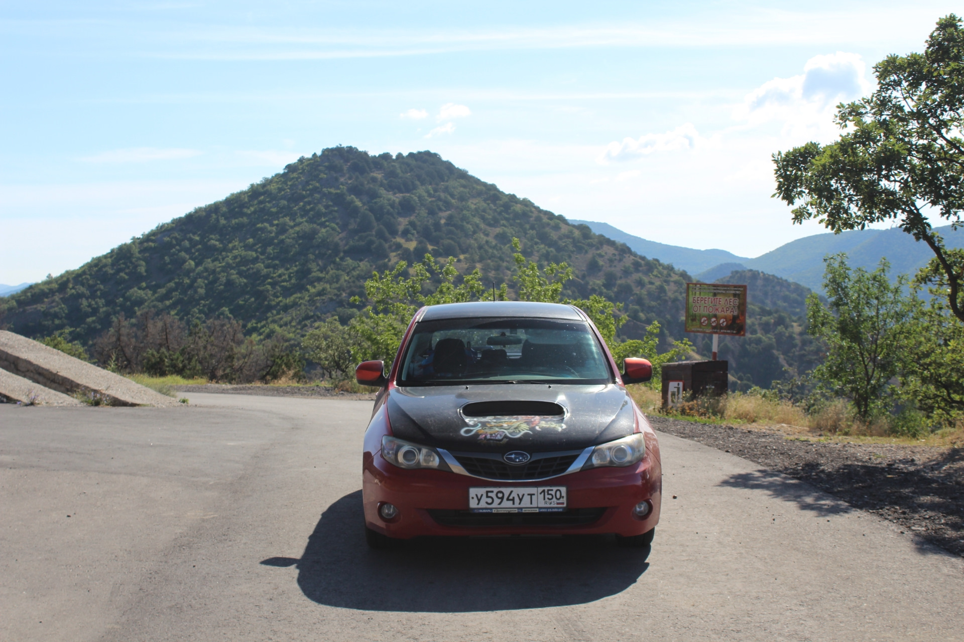
[{"label": "hazy blue distant mountain range right of the forested hill", "polygon": [[[889,230],[852,230],[841,234],[815,234],[783,244],[755,259],[738,257],[722,249],[690,249],[640,239],[607,223],[585,223],[597,234],[629,245],[637,254],[672,263],[701,281],[715,281],[736,270],[759,270],[794,281],[816,291],[823,286],[823,257],[845,252],[853,268],[875,270],[880,259],[891,263],[891,275],[913,274],[934,256],[930,248],[895,227]],[[964,228],[935,228],[949,247],[964,247]],[[717,258],[718,257],[718,258]]]}]

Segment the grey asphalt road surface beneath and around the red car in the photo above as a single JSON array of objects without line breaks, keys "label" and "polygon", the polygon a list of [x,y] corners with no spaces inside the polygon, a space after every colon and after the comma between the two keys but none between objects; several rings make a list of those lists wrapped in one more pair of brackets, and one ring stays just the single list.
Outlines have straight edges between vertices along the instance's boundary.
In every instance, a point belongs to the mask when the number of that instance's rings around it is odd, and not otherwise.
[{"label": "grey asphalt road surface beneath and around the red car", "polygon": [[964,639],[964,561],[720,450],[660,435],[648,556],[605,538],[372,552],[370,401],[190,398],[0,404],[0,639]]}]

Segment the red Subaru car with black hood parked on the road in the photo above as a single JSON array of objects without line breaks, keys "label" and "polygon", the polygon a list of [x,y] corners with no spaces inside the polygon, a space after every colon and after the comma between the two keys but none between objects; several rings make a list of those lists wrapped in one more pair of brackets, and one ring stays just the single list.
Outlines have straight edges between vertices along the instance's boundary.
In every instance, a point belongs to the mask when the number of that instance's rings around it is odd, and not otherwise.
[{"label": "red Subaru car with black hood parked on the road", "polygon": [[659,521],[656,433],[599,330],[570,305],[424,307],[381,386],[364,436],[369,546],[420,535],[614,533],[649,546]]}]

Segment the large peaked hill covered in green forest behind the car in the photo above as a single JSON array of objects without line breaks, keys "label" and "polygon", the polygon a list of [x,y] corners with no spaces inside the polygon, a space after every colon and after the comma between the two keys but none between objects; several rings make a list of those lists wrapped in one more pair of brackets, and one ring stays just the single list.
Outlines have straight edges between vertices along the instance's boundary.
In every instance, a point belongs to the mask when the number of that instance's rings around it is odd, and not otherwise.
[{"label": "large peaked hill covered in green forest behind the car", "polygon": [[[153,310],[187,322],[233,318],[259,337],[299,337],[317,321],[356,315],[362,305],[349,299],[364,297],[372,270],[425,252],[455,257],[461,273],[478,268],[486,283],[508,282],[512,298],[513,237],[543,266],[575,269],[564,294],[623,303],[626,336],[656,320],[663,345],[683,338],[686,272],[502,193],[437,154],[372,156],[353,147],[299,159],[78,270],[0,298],[0,322],[32,337],[67,329],[89,346],[120,314]],[[761,349],[771,346],[775,340]],[[767,358],[795,367],[792,353]]]}]

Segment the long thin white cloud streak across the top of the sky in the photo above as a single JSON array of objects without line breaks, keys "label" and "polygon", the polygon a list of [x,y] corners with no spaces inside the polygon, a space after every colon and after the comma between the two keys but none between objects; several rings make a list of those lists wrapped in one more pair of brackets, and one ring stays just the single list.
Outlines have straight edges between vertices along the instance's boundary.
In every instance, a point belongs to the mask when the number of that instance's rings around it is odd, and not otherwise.
[{"label": "long thin white cloud streak across the top of the sky", "polygon": [[[732,4],[732,3],[731,3]],[[883,3],[886,4],[886,3]],[[163,39],[150,40],[147,55],[203,60],[324,60],[382,56],[443,55],[463,51],[559,49],[572,47],[711,47],[827,45],[885,46],[918,43],[933,28],[934,16],[947,13],[947,3],[904,3],[874,11],[788,11],[720,4],[684,17],[648,16],[645,21],[543,27],[317,29],[304,26],[191,27]],[[172,47],[172,42],[174,46]]]}]

